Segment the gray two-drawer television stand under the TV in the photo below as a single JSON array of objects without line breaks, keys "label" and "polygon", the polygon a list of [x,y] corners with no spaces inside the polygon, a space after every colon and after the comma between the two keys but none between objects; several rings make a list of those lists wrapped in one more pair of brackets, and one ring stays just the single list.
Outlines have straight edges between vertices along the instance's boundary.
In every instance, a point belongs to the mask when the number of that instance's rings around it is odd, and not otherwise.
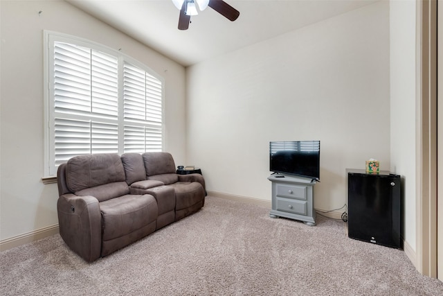
[{"label": "gray two-drawer television stand under the TV", "polygon": [[306,225],[316,225],[314,211],[314,184],[316,180],[303,177],[276,177],[270,175],[272,182],[271,218],[289,218],[303,221]]}]

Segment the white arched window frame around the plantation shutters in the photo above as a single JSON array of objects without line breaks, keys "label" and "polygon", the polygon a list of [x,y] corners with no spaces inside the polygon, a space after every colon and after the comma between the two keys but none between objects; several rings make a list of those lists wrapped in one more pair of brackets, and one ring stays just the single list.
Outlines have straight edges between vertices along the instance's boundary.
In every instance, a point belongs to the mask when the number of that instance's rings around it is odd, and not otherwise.
[{"label": "white arched window frame around the plantation shutters", "polygon": [[[161,83],[161,151],[165,146],[165,81],[156,71],[147,67],[142,62],[122,53],[120,50],[111,49],[108,46],[98,44],[91,40],[64,33],[53,31],[43,31],[44,33],[44,172],[43,179],[51,179],[57,175],[57,165],[55,164],[55,87],[54,87],[54,44],[55,42],[64,42],[74,44],[75,46],[83,46],[88,49],[113,55],[118,60],[118,154],[124,153],[124,99],[123,99],[123,67],[125,63],[131,64],[150,76],[153,76]],[[145,126],[147,126],[145,124]]]}]

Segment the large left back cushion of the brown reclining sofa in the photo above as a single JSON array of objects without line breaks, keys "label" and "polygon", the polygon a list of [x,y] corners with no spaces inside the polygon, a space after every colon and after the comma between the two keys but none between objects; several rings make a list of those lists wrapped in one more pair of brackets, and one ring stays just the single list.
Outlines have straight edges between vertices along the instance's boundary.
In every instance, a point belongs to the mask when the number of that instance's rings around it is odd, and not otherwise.
[{"label": "large left back cushion of the brown reclining sofa", "polygon": [[66,185],[71,192],[113,182],[125,182],[118,154],[79,155],[66,164]]}]

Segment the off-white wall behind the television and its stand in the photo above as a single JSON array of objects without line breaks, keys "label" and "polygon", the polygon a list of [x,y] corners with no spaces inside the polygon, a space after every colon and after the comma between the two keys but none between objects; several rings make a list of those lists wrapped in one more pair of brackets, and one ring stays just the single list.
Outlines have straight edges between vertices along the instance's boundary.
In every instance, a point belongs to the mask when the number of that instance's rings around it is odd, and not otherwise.
[{"label": "off-white wall behind the television and its stand", "polygon": [[269,141],[319,139],[314,207],[346,202],[346,168],[390,169],[389,3],[187,69],[188,162],[209,191],[271,200]]}]

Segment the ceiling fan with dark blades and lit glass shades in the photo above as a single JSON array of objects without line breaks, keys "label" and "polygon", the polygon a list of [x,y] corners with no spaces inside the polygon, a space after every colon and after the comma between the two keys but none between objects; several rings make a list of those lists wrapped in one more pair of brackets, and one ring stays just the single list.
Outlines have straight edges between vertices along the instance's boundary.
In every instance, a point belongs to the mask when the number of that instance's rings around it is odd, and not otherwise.
[{"label": "ceiling fan with dark blades and lit glass shades", "polygon": [[[240,15],[240,12],[222,0],[172,0],[175,7],[180,10],[179,15],[179,30],[188,30],[191,15],[198,15],[197,6],[199,10],[205,10],[206,7],[213,8],[230,21],[235,21]],[[195,3],[197,2],[197,6]]]}]

